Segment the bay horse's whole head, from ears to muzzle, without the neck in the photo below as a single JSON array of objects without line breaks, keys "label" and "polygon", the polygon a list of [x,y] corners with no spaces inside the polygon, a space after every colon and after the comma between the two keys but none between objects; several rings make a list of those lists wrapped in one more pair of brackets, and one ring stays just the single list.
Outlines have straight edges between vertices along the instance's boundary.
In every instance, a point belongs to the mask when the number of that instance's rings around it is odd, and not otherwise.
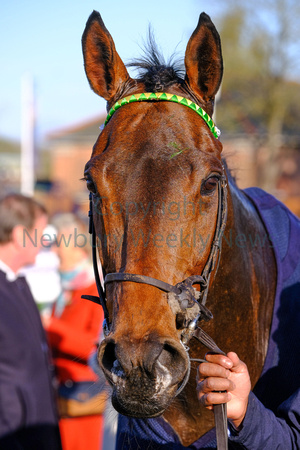
[{"label": "bay horse's whole head, from ears to muzzle, without the neck", "polygon": [[[185,77],[152,54],[144,74],[131,78],[97,12],[82,43],[89,83],[112,108],[85,168],[102,267],[179,286],[203,272],[218,220],[222,146],[209,116],[223,71],[219,35],[202,13]],[[98,359],[113,404],[124,415],[155,417],[187,377],[181,337],[197,304],[184,307],[132,277],[108,281],[109,332]]]}]

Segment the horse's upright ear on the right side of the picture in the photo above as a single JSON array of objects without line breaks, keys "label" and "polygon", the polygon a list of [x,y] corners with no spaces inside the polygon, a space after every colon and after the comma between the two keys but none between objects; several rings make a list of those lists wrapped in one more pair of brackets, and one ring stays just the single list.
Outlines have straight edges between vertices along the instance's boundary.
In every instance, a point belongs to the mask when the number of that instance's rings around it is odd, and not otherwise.
[{"label": "horse's upright ear on the right side of the picture", "polygon": [[202,13],[185,52],[186,82],[204,102],[213,102],[221,84],[221,41],[210,17]]}]

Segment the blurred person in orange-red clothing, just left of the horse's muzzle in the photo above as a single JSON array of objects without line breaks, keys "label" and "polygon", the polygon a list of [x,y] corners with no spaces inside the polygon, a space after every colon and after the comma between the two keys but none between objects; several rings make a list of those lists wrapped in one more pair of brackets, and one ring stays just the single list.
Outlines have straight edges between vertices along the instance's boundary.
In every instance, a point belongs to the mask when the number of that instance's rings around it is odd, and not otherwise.
[{"label": "blurred person in orange-red clothing, just left of the horse's muzzle", "polygon": [[44,320],[59,383],[58,405],[63,450],[102,448],[105,381],[88,361],[96,349],[103,321],[102,308],[81,296],[97,295],[86,225],[74,214],[52,221],[60,260],[62,291],[52,316]]}]

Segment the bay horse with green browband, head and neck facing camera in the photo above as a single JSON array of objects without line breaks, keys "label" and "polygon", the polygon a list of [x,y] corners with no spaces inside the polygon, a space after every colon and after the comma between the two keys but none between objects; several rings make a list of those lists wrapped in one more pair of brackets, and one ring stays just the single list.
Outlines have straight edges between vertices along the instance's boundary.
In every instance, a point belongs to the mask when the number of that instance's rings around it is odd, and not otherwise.
[{"label": "bay horse with green browband, head and neck facing camera", "polygon": [[[136,79],[96,11],[82,45],[90,86],[109,111],[84,172],[107,274],[99,364],[119,413],[161,416],[187,447],[213,427],[213,417],[197,400],[197,364],[190,368],[190,358],[207,349],[184,340],[186,330],[206,319],[205,332],[238,353],[254,385],[277,279],[266,227],[227,170],[211,119],[223,74],[220,37],[202,13],[186,47],[185,75],[160,61],[152,45]],[[216,229],[225,208],[220,252]]]}]

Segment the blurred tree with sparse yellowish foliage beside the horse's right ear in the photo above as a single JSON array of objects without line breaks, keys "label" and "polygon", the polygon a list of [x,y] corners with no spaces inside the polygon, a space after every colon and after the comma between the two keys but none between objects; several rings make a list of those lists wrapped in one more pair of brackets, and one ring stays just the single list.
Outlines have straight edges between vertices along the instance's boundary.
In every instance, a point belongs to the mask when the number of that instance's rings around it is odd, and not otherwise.
[{"label": "blurred tree with sparse yellowish foliage beside the horse's right ear", "polygon": [[229,131],[236,132],[238,123],[244,132],[265,136],[257,147],[264,152],[259,183],[272,190],[283,131],[300,97],[300,84],[291,86],[291,80],[299,81],[300,2],[232,0],[227,5],[220,21],[225,77],[219,117]]}]

